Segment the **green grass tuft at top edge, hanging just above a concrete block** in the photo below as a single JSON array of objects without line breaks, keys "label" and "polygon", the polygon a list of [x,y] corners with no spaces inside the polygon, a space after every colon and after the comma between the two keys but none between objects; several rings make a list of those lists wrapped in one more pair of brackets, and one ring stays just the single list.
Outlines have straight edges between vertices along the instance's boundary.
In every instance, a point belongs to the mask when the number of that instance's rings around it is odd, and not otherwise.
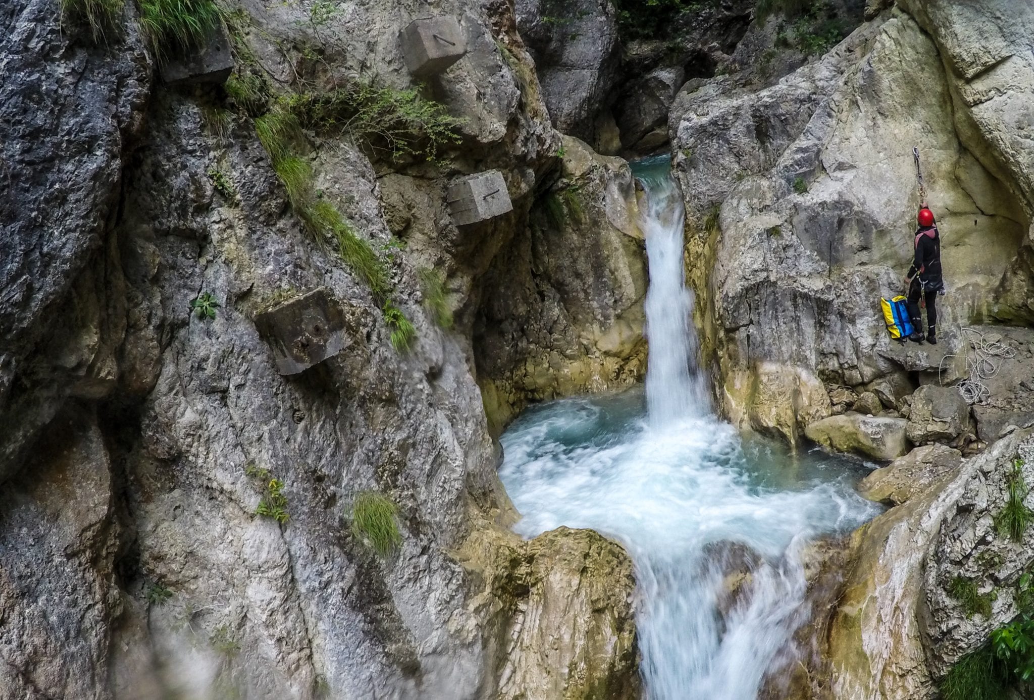
[{"label": "green grass tuft at top edge, hanging just above a concrete block", "polygon": [[204,45],[221,22],[214,0],[139,0],[140,24],[159,61]]}]

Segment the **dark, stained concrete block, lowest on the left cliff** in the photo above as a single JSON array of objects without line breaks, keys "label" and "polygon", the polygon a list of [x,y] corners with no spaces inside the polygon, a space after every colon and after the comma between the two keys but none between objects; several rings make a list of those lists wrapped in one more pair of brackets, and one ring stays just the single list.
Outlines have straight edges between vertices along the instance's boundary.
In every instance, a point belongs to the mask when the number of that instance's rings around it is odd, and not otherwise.
[{"label": "dark, stained concrete block, lowest on the left cliff", "polygon": [[344,314],[321,287],[255,315],[281,374],[297,374],[332,358],[348,344]]}]

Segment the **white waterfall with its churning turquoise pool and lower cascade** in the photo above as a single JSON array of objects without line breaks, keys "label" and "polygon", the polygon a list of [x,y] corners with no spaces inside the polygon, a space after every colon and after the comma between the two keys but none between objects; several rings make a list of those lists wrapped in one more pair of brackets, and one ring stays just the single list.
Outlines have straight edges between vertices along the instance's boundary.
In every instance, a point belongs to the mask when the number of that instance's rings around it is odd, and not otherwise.
[{"label": "white waterfall with its churning turquoise pool and lower cascade", "polygon": [[[641,391],[533,407],[503,435],[499,475],[524,537],[591,527],[632,555],[648,700],[756,700],[766,674],[793,661],[793,633],[809,614],[801,547],[879,509],[854,491],[857,465],[744,440],[710,413],[683,284],[679,194],[667,163],[638,175],[648,408]],[[744,566],[753,577],[730,600],[726,575]]]}]

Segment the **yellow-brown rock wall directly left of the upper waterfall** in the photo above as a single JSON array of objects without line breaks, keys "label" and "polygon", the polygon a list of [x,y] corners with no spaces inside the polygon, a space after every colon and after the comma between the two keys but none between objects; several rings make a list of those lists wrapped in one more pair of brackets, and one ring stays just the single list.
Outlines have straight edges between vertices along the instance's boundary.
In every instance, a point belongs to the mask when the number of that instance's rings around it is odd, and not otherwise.
[{"label": "yellow-brown rock wall directly left of the upper waterfall", "polygon": [[564,147],[562,178],[481,290],[476,359],[493,431],[529,399],[628,386],[646,370],[646,258],[632,173],[577,139]]}]

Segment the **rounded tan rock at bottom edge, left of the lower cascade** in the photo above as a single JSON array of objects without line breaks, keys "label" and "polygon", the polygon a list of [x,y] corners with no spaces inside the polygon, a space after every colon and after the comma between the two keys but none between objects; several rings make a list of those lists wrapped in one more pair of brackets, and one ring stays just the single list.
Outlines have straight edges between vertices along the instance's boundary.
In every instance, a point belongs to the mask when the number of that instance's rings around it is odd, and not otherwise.
[{"label": "rounded tan rock at bottom edge, left of the lower cascade", "polygon": [[477,536],[461,561],[485,592],[474,599],[505,618],[495,640],[506,700],[639,697],[632,560],[592,530],[560,527],[522,542]]}]

